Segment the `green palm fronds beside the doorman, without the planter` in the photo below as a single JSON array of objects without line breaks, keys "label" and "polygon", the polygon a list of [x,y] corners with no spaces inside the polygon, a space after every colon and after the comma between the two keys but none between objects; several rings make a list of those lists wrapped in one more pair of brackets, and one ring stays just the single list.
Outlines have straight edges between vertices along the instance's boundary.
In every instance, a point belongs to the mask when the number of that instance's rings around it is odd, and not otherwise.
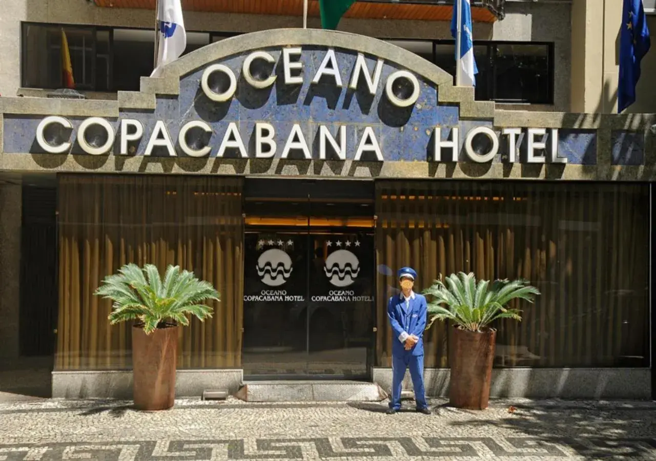
[{"label": "green palm fronds beside the doorman, without the planter", "polygon": [[480,332],[496,319],[522,320],[519,309],[508,309],[506,305],[514,299],[533,302],[540,292],[527,285],[527,281],[496,280],[492,284],[487,280],[476,283],[474,273],[452,273],[446,277],[446,284],[434,281],[430,288],[423,291],[428,297],[428,329],[436,320],[451,320],[468,331]]}]

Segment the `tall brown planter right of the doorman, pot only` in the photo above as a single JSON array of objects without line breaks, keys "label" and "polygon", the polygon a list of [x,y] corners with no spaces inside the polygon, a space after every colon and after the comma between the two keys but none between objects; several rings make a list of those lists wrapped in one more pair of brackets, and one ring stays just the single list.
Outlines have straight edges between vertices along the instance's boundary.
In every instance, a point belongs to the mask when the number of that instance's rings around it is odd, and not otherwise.
[{"label": "tall brown planter right of the doorman, pot only", "polygon": [[458,327],[451,330],[449,403],[454,407],[469,410],[487,408],[496,338],[495,329],[486,329],[481,333]]}]

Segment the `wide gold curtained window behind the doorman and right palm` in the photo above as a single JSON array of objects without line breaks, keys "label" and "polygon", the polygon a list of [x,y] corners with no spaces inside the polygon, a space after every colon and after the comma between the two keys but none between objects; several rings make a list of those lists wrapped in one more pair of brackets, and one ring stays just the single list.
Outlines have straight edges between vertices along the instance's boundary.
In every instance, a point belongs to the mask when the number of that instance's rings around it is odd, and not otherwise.
[{"label": "wide gold curtained window behind the doorman and right palm", "polygon": [[[440,274],[528,279],[535,304],[502,321],[497,367],[649,365],[649,189],[644,184],[381,181],[376,190],[377,364],[390,366],[386,304],[396,271],[417,291]],[[382,327],[382,328],[381,328]],[[449,327],[424,333],[447,367]]]}]

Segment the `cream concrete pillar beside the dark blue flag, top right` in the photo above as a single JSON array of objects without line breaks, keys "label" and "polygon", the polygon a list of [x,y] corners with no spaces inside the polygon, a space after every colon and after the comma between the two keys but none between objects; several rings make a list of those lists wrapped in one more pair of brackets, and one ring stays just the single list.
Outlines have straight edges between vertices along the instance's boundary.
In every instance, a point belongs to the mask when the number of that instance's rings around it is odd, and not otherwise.
[{"label": "cream concrete pillar beside the dark blue flag, top right", "polygon": [[570,111],[617,111],[621,18],[621,1],[573,0]]}]

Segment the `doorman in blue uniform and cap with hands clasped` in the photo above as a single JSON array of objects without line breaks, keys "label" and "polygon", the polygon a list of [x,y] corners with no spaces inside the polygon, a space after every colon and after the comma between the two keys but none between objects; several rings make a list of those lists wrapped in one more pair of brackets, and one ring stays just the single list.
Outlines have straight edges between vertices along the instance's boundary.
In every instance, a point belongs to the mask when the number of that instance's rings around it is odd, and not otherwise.
[{"label": "doorman in blue uniform and cap with hands clasped", "polygon": [[417,411],[430,414],[424,390],[424,328],[426,328],[426,298],[413,291],[417,272],[401,268],[398,272],[401,292],[392,296],[387,315],[392,325],[392,401],[387,414],[401,409],[401,383],[405,370],[410,369]]}]

